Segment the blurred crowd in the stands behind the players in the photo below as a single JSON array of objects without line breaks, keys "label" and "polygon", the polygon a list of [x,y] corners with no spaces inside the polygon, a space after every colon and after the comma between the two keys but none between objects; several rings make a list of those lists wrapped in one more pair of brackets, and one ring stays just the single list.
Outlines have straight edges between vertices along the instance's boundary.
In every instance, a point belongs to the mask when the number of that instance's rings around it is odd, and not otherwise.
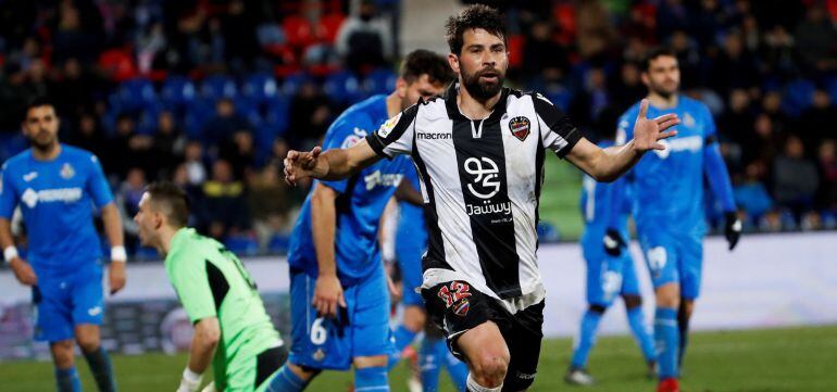
[{"label": "blurred crowd in the stands behind the players", "polygon": [[[837,1],[487,3],[509,17],[509,83],[545,92],[592,139],[645,96],[642,54],[673,48],[684,92],[715,116],[747,225],[835,227]],[[168,178],[188,190],[204,232],[238,252],[282,252],[305,192],[282,182],[282,157],[315,144],[351,103],[391,89],[401,9],[3,1],[0,159],[26,147],[22,108],[47,94],[62,140],[101,157],[125,214],[146,184]],[[714,210],[709,200],[710,220]],[[136,231],[128,219],[126,230]]]}]

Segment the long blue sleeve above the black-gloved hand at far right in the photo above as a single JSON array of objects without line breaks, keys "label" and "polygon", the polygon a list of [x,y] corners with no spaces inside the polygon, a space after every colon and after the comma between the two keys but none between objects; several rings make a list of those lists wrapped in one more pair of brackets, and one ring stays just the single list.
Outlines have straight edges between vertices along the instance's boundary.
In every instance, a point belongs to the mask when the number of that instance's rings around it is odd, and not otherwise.
[{"label": "long blue sleeve above the black-gloved hand at far right", "polygon": [[726,163],[721,155],[721,148],[717,146],[717,129],[712,114],[703,106],[701,111],[703,116],[703,170],[709,178],[709,186],[712,194],[721,202],[724,212],[736,211],[735,198],[733,197],[733,185],[729,181],[729,173],[726,170]]}]

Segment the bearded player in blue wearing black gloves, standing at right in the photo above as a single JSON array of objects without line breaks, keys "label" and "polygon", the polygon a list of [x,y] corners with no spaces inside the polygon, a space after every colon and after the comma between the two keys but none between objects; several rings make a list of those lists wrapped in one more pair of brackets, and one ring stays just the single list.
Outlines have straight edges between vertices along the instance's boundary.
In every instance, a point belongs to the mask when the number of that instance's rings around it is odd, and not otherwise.
[{"label": "bearded player in blue wearing black gloves, standing at right", "polygon": [[[659,49],[645,61],[649,116],[676,113],[678,136],[665,140],[633,168],[634,220],[657,294],[654,339],[660,366],[659,391],[678,391],[679,362],[685,353],[689,318],[700,294],[703,237],[703,180],[726,214],[724,233],[733,250],[741,233],[729,176],[717,146],[709,109],[677,93],[680,71],[673,52]],[[620,140],[633,136],[635,104],[619,121]],[[661,198],[662,195],[662,198]]]}]

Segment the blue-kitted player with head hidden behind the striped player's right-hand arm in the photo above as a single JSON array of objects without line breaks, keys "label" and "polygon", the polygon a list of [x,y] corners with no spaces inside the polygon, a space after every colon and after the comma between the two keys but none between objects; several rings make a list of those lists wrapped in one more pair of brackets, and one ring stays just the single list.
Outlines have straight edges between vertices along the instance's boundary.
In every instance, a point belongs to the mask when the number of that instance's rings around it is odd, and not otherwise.
[{"label": "blue-kitted player with head hidden behind the striped player's right-hand arm", "polygon": [[[615,129],[599,147],[613,146]],[[596,330],[604,312],[616,296],[625,303],[628,325],[634,332],[642,356],[653,375],[657,355],[654,342],[646,326],[642,296],[634,269],[634,260],[627,250],[627,218],[630,214],[630,187],[625,178],[612,184],[597,182],[584,176],[582,188],[582,215],[585,230],[582,235],[582,252],[587,263],[587,311],[582,318],[580,333],[575,342],[567,383],[590,385],[592,377],[587,372],[587,357],[596,343]]]}]

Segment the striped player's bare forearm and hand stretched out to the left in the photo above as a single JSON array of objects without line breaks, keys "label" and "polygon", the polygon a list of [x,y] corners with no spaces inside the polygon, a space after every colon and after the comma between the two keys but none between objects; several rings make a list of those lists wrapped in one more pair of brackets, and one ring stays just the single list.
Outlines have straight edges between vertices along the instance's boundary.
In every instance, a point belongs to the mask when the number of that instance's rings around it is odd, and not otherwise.
[{"label": "striped player's bare forearm and hand stretched out to the left", "polygon": [[309,152],[291,150],[285,157],[285,182],[296,186],[307,177],[324,180],[343,179],[380,160],[365,139],[348,149],[325,152],[315,147]]}]

